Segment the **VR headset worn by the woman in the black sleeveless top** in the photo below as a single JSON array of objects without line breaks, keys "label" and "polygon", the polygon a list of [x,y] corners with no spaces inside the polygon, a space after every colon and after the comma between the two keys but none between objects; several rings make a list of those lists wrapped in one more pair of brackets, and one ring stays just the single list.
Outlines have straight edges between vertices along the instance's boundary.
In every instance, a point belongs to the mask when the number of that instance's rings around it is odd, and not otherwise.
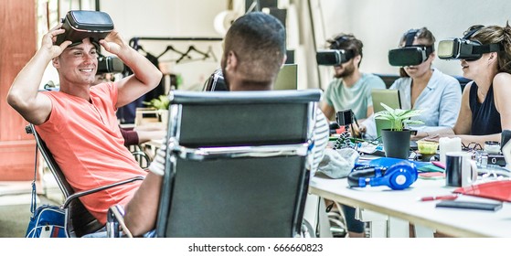
[{"label": "VR headset worn by the woman in the black sleeveless top", "polygon": [[452,38],[442,40],[438,44],[438,58],[440,59],[465,59],[477,60],[484,53],[500,51],[500,44],[482,45],[478,41],[466,38]]}]

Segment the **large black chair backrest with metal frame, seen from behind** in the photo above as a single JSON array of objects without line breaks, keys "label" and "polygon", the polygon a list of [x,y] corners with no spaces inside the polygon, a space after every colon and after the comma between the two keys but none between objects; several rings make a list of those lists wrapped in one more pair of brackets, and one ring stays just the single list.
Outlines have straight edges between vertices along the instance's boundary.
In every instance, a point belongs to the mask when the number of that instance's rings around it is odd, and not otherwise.
[{"label": "large black chair backrest with metal frame, seen from behind", "polygon": [[158,237],[295,237],[321,91],[175,91]]}]

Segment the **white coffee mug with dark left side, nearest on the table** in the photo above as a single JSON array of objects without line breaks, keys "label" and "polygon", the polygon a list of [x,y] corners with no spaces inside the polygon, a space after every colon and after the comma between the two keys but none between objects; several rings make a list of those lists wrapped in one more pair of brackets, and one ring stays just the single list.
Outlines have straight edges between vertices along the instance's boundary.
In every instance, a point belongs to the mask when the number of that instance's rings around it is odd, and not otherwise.
[{"label": "white coffee mug with dark left side, nearest on the table", "polygon": [[445,185],[467,187],[477,180],[477,165],[468,152],[448,152],[445,155]]}]

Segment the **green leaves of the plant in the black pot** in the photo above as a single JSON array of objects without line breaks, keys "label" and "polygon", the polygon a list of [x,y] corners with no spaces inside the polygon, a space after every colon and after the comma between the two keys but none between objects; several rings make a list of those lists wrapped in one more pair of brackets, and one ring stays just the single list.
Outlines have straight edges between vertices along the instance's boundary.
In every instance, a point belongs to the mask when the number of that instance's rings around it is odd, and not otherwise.
[{"label": "green leaves of the plant in the black pot", "polygon": [[407,124],[422,124],[421,120],[411,120],[410,117],[418,116],[422,110],[392,109],[385,103],[381,103],[385,111],[375,113],[375,119],[388,120],[391,123],[391,131],[403,131]]}]

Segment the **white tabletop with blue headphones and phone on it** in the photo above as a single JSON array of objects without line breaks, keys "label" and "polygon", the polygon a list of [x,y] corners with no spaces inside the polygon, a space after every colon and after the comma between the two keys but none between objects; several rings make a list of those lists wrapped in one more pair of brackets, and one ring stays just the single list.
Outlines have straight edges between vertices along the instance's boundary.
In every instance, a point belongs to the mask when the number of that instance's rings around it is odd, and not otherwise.
[{"label": "white tabletop with blue headphones and phone on it", "polygon": [[[445,180],[418,179],[406,190],[389,187],[347,186],[347,179],[314,176],[310,192],[355,208],[381,213],[392,219],[404,219],[418,226],[436,229],[455,237],[506,237],[511,238],[511,203],[504,203],[498,211],[474,209],[435,208],[439,201],[422,202],[421,197],[451,194],[453,188],[445,187]],[[493,202],[493,200],[460,196],[457,200]],[[403,225],[401,225],[402,227]],[[408,222],[406,224],[408,227]]]}]

